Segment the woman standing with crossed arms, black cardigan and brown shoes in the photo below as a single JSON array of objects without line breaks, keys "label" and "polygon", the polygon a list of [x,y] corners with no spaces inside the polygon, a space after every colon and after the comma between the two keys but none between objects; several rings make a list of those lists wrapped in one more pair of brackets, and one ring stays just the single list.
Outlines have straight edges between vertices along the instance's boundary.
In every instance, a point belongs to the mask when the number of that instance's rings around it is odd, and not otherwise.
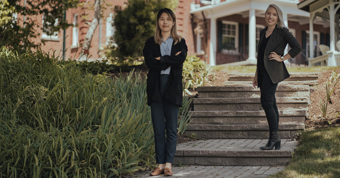
[{"label": "woman standing with crossed arms, black cardigan and brown shoes", "polygon": [[147,74],[147,104],[155,133],[157,168],[150,176],[172,176],[177,144],[178,109],[182,106],[182,69],[188,47],[177,35],[176,16],[168,8],[157,14],[155,36],[146,40],[143,55]]}]

